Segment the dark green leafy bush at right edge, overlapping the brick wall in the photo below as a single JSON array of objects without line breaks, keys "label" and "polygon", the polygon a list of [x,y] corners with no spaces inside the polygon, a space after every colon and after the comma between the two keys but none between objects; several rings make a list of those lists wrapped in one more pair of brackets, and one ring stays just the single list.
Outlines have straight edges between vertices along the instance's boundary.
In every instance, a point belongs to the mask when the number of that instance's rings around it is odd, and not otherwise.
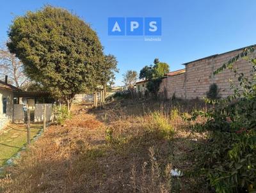
[{"label": "dark green leafy bush at right edge, overlapping the brick wall", "polygon": [[[254,50],[255,47],[246,48],[215,72],[229,68],[236,74],[239,84],[231,86],[234,95],[214,101],[216,105],[211,111],[193,113],[192,119],[198,115],[207,118],[194,128],[211,131],[211,142],[202,149],[197,169],[207,176],[216,192],[256,191],[256,59],[247,57]],[[233,67],[239,59],[252,63],[251,79]]]}]

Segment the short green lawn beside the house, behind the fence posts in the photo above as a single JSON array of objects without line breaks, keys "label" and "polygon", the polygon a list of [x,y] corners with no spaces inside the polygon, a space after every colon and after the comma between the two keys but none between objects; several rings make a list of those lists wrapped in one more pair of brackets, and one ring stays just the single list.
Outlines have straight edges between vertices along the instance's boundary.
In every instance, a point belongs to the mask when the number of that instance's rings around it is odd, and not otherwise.
[{"label": "short green lawn beside the house, behind the fence posts", "polygon": [[[31,139],[42,129],[42,124],[31,124]],[[27,143],[27,129],[24,124],[10,124],[0,130],[0,167],[20,151]]]}]

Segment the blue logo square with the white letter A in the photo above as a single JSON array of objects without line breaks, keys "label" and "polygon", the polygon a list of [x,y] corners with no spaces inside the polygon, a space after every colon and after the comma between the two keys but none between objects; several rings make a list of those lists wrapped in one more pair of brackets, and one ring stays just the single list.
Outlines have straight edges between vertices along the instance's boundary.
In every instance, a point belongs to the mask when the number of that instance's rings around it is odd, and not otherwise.
[{"label": "blue logo square with the white letter A", "polygon": [[125,18],[124,17],[108,18],[108,35],[109,36],[125,35]]}]

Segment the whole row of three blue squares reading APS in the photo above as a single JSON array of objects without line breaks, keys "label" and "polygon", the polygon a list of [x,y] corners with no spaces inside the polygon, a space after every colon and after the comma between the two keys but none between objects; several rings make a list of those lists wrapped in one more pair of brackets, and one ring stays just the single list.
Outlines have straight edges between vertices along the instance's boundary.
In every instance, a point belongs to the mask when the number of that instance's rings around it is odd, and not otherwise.
[{"label": "whole row of three blue squares reading APS", "polygon": [[161,36],[161,17],[109,17],[109,36]]}]

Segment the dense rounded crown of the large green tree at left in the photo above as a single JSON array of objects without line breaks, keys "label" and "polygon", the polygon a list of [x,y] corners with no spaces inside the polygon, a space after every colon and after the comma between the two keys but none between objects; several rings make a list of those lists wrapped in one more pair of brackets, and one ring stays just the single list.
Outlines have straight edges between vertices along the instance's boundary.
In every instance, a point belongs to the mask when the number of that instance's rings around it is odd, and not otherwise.
[{"label": "dense rounded crown of the large green tree at left", "polygon": [[26,75],[62,102],[70,104],[74,95],[100,84],[104,56],[97,33],[67,10],[27,12],[15,18],[8,35],[7,46]]}]

